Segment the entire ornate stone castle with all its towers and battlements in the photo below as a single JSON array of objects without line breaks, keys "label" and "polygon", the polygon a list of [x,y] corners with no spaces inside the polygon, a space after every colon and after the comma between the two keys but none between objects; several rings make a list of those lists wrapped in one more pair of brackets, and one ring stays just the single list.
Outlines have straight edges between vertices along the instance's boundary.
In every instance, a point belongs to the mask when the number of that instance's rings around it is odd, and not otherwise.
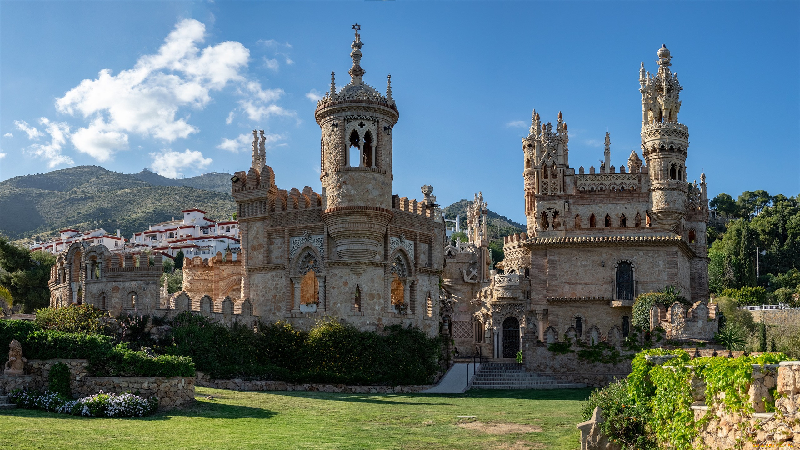
[{"label": "entire ornate stone castle with all its towers and battlements", "polygon": [[[634,299],[672,286],[694,306],[656,307],[652,326],[664,327],[671,338],[713,336],[716,309],[706,303],[706,179],[688,181],[689,133],[678,123],[682,86],[666,46],[658,50],[658,71],[650,74],[642,63],[639,73],[643,160],[631,151],[627,167],[615,168],[606,133],[600,167],[576,171],[562,114],[555,124],[544,123],[534,110],[520,159],[527,230],[506,237],[506,257],[497,264],[481,194],[467,211],[466,243],[446,239],[433,187],[422,187],[420,201],[393,195],[398,108],[391,77],[386,94],[363,81],[362,46],[357,30],[350,81],[337,88],[331,74],[330,90],[314,113],[322,130],[321,191],[279,189],[266,164],[264,132],[254,131],[251,166],[231,179],[241,253],[186,259],[184,291],[170,296],[155,290],[151,310],[301,327],[323,316],[369,330],[399,324],[452,338],[459,355],[513,358],[526,346],[565,336],[619,344],[633,329]],[[90,292],[94,266],[85,258],[74,263],[74,255],[70,247],[59,256],[53,306],[75,303],[76,295],[106,309],[136,304],[127,292],[110,300]],[[76,266],[82,275],[75,275]],[[71,275],[61,275],[62,267],[73,267]],[[109,267],[101,272],[141,272],[142,286],[158,279],[156,269],[151,280],[146,268],[124,260]],[[82,279],[89,283],[83,293],[70,284]]]}]

